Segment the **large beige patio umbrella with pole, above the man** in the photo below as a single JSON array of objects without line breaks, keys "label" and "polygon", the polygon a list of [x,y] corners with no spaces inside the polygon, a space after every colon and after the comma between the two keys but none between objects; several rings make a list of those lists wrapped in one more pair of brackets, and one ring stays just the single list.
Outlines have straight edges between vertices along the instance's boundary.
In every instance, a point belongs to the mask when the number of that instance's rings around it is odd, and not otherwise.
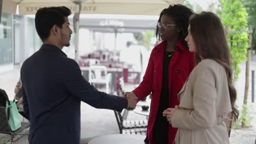
[{"label": "large beige patio umbrella with pole, above the man", "polygon": [[78,60],[79,15],[83,14],[127,14],[159,15],[168,5],[181,4],[185,0],[3,0],[3,12],[35,14],[39,8],[66,6],[74,13],[75,60]]}]

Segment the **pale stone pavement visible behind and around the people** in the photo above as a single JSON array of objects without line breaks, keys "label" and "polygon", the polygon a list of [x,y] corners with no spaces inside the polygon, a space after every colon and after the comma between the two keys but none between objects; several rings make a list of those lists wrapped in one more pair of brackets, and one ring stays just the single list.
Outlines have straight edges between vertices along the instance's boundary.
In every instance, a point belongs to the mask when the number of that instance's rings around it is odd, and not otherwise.
[{"label": "pale stone pavement visible behind and around the people", "polygon": [[[240,65],[241,74],[240,79],[235,83],[235,87],[237,89],[237,105],[241,110],[243,94],[245,91],[245,63]],[[251,62],[251,70],[256,71],[256,62]],[[15,67],[14,70],[9,71],[7,73],[0,74],[0,88],[5,89],[10,99],[14,97],[14,87],[16,82],[19,79],[19,70],[18,66]],[[246,129],[232,129],[230,136],[231,144],[243,144],[243,143],[254,143],[256,139],[256,106],[251,102],[251,70],[250,70],[250,85],[249,85],[249,97],[248,104],[252,105],[252,109],[250,110],[250,115],[254,117],[252,121],[252,127]],[[256,79],[255,79],[256,80]],[[256,86],[255,90],[256,90]],[[132,86],[126,86],[126,91],[132,89]],[[256,91],[255,91],[256,92]],[[255,94],[256,97],[256,94]],[[255,98],[256,99],[256,98]],[[81,105],[81,143],[88,143],[92,138],[101,135],[107,134],[118,134],[119,129],[117,125],[117,121],[114,116],[114,112],[112,110],[104,110],[104,109],[95,109],[94,107],[89,106],[88,104],[82,103]],[[144,116],[137,115],[134,112],[130,112],[128,119],[144,119]],[[22,131],[23,134],[28,134],[28,129]],[[18,135],[16,136],[18,140],[15,143],[19,144],[27,144],[27,136]],[[8,135],[0,134],[0,144],[4,143],[9,139]],[[9,143],[8,143],[9,144]]]}]

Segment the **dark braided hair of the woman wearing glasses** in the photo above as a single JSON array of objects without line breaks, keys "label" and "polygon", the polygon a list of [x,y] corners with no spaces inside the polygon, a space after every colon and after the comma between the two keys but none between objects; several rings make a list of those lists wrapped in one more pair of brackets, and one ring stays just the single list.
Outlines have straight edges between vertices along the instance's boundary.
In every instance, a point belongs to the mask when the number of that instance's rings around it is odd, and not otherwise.
[{"label": "dark braided hair of the woman wearing glasses", "polygon": [[[188,48],[188,44],[187,41],[185,41],[185,38],[188,35],[189,17],[193,13],[193,10],[185,7],[182,4],[174,4],[173,6],[170,5],[167,9],[162,10],[158,22],[161,22],[162,15],[171,17],[176,22],[176,25],[181,28],[179,38],[182,40],[182,44]],[[155,35],[156,38],[161,40],[158,26],[156,26]]]}]

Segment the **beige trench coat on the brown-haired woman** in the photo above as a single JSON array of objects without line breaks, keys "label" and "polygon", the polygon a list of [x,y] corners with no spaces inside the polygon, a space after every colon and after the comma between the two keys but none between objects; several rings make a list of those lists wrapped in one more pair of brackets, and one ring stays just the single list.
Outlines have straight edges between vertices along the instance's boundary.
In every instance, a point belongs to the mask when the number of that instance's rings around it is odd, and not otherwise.
[{"label": "beige trench coat on the brown-haired woman", "polygon": [[228,144],[223,119],[231,109],[225,69],[212,59],[203,59],[191,72],[178,94],[180,109],[171,118],[179,128],[175,144]]}]

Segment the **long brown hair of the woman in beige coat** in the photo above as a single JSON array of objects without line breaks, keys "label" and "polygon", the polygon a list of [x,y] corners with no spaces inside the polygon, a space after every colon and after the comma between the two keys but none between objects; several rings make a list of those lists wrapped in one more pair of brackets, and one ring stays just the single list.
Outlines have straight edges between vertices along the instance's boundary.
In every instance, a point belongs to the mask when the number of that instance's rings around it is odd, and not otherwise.
[{"label": "long brown hair of the woman in beige coat", "polygon": [[235,108],[236,89],[232,85],[231,55],[222,22],[216,14],[202,12],[201,14],[193,14],[189,19],[189,23],[190,32],[196,46],[196,64],[201,61],[201,58],[213,59],[221,64],[226,71],[232,106],[232,119],[235,122],[239,111]]}]

